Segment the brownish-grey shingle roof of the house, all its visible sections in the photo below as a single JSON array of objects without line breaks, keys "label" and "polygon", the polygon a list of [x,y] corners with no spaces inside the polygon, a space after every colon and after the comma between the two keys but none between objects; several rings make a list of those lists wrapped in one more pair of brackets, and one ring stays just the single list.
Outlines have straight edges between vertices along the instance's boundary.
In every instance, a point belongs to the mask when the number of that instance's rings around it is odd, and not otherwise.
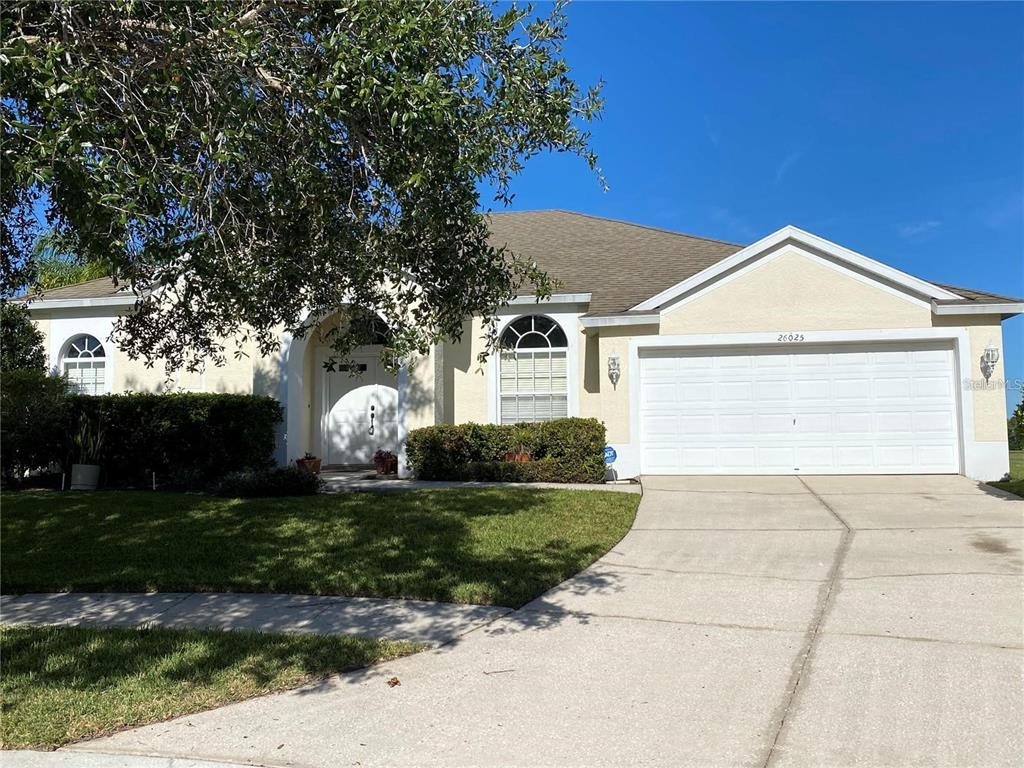
[{"label": "brownish-grey shingle roof of the house, all its visible sections", "polygon": [[[589,314],[617,314],[731,256],[743,246],[570,211],[490,214],[492,243],[508,245],[559,281],[559,293],[592,294]],[[936,284],[938,285],[938,284]],[[944,304],[1002,304],[1021,299],[940,286],[963,299]],[[45,291],[44,299],[124,295],[110,278]],[[19,297],[25,298],[25,297]]]}]

